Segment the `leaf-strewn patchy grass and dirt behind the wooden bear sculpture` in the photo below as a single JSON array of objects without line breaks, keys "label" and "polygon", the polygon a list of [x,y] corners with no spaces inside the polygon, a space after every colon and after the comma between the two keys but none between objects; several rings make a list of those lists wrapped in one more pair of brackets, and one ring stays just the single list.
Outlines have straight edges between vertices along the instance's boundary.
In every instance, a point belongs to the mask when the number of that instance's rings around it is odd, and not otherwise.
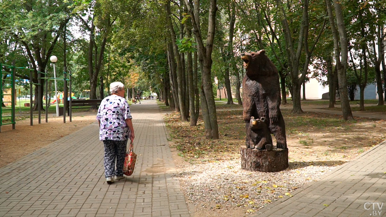
[{"label": "leaf-strewn patchy grass and dirt behind the wooden bear sculpture", "polygon": [[[355,122],[345,122],[341,115],[312,112],[294,115],[289,110],[282,110],[282,113],[290,163],[336,166],[355,158],[386,137],[383,120],[359,118]],[[242,110],[218,111],[217,120],[220,139],[211,140],[205,139],[201,115],[197,126],[181,122],[176,112],[165,115],[171,140],[179,155],[190,163],[240,158],[239,146],[245,142]]]}]

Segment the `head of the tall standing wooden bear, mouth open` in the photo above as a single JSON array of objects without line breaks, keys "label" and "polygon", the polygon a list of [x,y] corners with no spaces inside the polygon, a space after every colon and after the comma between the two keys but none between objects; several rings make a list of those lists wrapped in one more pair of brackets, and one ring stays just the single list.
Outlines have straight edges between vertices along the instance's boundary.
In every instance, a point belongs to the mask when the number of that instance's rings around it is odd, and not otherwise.
[{"label": "head of the tall standing wooden bear, mouth open", "polygon": [[244,61],[244,68],[249,78],[278,74],[278,70],[266,56],[265,50],[241,54],[241,59]]}]

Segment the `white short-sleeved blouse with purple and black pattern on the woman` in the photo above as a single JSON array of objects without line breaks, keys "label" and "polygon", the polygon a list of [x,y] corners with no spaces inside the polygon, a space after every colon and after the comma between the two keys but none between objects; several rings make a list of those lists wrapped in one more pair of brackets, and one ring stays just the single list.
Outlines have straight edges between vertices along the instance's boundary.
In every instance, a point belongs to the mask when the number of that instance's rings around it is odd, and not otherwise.
[{"label": "white short-sleeved blouse with purple and black pattern on the woman", "polygon": [[111,95],[100,103],[97,120],[100,121],[99,140],[129,139],[130,130],[125,120],[132,119],[129,104],[117,95]]}]

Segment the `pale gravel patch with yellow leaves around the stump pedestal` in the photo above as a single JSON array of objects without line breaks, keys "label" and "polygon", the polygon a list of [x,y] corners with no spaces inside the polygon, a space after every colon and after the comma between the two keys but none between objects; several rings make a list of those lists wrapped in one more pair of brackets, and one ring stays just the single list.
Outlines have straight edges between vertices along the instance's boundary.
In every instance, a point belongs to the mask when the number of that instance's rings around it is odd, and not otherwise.
[{"label": "pale gravel patch with yellow leaves around the stump pedestal", "polygon": [[200,209],[226,211],[240,207],[253,213],[334,169],[335,166],[290,162],[276,173],[250,172],[240,168],[240,159],[178,166],[179,180],[189,203]]}]

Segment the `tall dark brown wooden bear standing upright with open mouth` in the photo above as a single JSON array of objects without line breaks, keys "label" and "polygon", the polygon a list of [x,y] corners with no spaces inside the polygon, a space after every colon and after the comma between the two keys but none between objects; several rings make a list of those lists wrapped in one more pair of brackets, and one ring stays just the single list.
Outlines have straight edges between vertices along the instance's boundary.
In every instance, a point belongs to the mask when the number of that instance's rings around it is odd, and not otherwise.
[{"label": "tall dark brown wooden bear standing upright with open mouth", "polygon": [[[265,121],[262,121],[263,124],[261,125],[266,125],[268,134],[272,133],[275,136],[276,147],[286,149],[285,124],[279,108],[281,95],[278,70],[266,56],[265,50],[241,54],[241,59],[244,61],[245,68],[242,87],[243,119],[247,131],[246,146],[252,149],[255,147],[266,149],[264,143],[267,143],[269,138],[265,136],[264,130],[255,131],[253,126],[250,129],[251,118],[257,117],[260,120],[264,118]],[[257,136],[265,139],[259,139]],[[270,135],[269,137],[271,138]]]}]

